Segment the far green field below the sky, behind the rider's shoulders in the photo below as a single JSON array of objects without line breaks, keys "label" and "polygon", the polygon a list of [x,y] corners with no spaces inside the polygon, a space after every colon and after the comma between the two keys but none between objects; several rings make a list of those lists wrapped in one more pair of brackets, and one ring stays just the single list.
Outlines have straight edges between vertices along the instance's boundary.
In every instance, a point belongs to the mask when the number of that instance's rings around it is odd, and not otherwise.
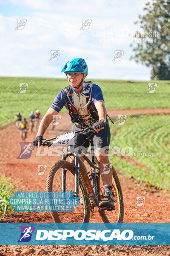
[{"label": "far green field below the sky, behind the rider's shoulders", "polygon": [[[147,93],[146,81],[93,81],[102,88],[107,109],[169,108],[169,81],[157,81],[155,93]],[[28,83],[26,93],[18,93],[19,83]],[[36,109],[44,114],[57,93],[67,85],[66,79],[0,77],[0,126],[13,122],[17,111],[26,117]],[[65,108],[62,111],[66,111]]]}]

